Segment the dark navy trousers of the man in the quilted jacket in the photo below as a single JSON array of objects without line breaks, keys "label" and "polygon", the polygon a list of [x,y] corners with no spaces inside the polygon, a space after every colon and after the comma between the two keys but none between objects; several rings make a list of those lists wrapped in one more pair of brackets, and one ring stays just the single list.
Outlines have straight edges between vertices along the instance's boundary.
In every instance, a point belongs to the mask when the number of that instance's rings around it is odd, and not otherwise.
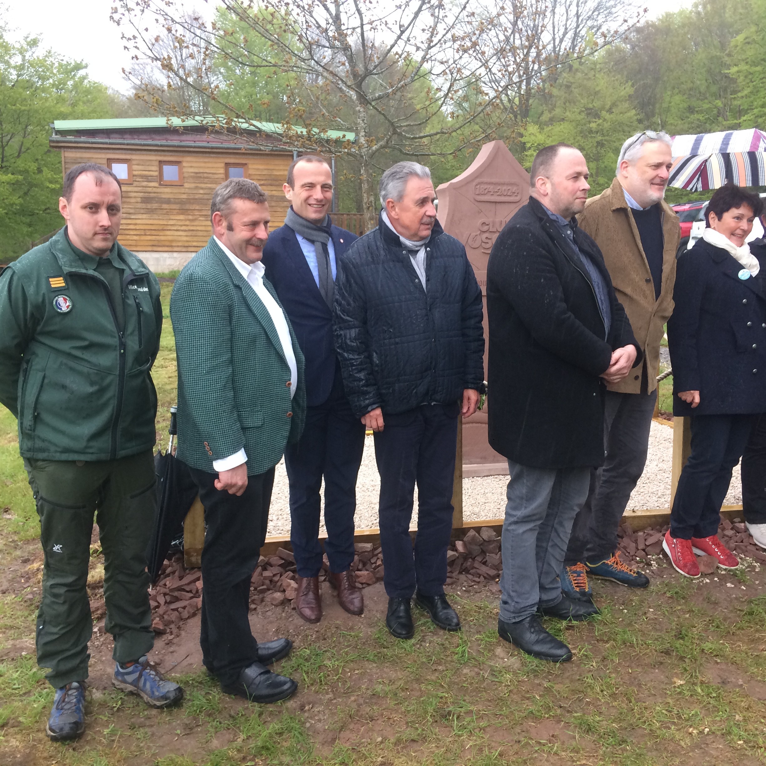
[{"label": "dark navy trousers of the man in the quilted jacket", "polygon": [[[444,593],[452,534],[452,486],[457,447],[457,404],[423,404],[383,416],[375,434],[381,475],[380,529],[383,584],[390,598]],[[410,522],[417,483],[417,535]]]}]

